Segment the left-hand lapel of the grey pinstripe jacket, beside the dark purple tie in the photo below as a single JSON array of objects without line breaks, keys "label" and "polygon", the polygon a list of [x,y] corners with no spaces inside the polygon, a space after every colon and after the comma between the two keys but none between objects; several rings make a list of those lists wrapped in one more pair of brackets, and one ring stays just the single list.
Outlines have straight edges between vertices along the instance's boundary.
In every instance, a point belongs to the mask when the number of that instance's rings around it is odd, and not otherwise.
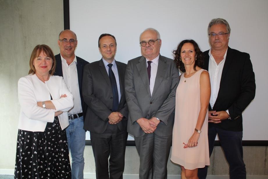
[{"label": "left-hand lapel of the grey pinstripe jacket, beside the dark purple tie", "polygon": [[140,77],[143,81],[143,84],[146,87],[148,94],[151,96],[149,77],[148,77],[147,68],[146,68],[146,59],[144,56],[142,56],[140,58],[139,63],[137,63],[136,66],[137,66],[137,70],[140,74]]}]

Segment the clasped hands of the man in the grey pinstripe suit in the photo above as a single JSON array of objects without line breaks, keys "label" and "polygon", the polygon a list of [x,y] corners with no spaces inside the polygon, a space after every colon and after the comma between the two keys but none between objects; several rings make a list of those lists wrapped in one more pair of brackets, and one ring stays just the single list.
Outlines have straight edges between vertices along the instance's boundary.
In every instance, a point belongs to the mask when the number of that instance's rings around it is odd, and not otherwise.
[{"label": "clasped hands of the man in the grey pinstripe suit", "polygon": [[156,117],[152,117],[151,119],[140,118],[137,120],[137,123],[146,134],[150,134],[156,130],[160,120],[158,120]]}]

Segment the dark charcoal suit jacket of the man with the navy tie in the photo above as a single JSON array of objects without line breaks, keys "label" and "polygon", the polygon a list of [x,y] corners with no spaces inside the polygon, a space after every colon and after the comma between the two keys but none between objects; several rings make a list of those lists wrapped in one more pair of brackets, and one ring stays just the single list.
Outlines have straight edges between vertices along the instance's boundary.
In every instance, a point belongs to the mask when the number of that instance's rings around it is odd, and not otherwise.
[{"label": "dark charcoal suit jacket of the man with the navy tie", "polygon": [[[118,112],[124,118],[116,124],[120,131],[126,130],[128,120],[128,107],[126,104],[124,79],[126,64],[115,61],[120,83],[121,100]],[[112,109],[112,86],[102,59],[85,66],[83,77],[83,97],[87,104],[87,115],[84,121],[84,129],[101,134],[108,125],[108,116]]]}]

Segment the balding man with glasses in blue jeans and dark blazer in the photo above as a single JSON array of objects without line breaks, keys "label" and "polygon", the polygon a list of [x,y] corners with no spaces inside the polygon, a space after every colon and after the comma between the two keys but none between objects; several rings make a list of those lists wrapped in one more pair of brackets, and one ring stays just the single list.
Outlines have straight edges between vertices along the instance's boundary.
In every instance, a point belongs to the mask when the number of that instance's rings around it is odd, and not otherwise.
[{"label": "balding man with glasses in blue jeans and dark blazer", "polygon": [[87,106],[82,96],[83,68],[87,61],[75,56],[77,46],[76,34],[70,30],[60,32],[58,45],[60,54],[56,55],[54,75],[62,76],[69,90],[74,95],[74,107],[68,111],[69,126],[66,128],[68,148],[72,155],[72,178],[83,178],[85,130],[83,119]]}]

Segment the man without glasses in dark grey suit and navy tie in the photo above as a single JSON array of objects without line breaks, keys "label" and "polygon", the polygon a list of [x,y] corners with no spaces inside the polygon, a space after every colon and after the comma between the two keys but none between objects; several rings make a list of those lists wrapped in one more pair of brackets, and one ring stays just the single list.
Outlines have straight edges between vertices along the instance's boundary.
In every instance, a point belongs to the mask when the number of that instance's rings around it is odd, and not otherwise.
[{"label": "man without glasses in dark grey suit and navy tie", "polygon": [[114,36],[101,34],[98,43],[102,59],[84,68],[83,97],[88,105],[84,129],[90,131],[96,178],[122,179],[128,137],[126,64],[115,61]]}]

